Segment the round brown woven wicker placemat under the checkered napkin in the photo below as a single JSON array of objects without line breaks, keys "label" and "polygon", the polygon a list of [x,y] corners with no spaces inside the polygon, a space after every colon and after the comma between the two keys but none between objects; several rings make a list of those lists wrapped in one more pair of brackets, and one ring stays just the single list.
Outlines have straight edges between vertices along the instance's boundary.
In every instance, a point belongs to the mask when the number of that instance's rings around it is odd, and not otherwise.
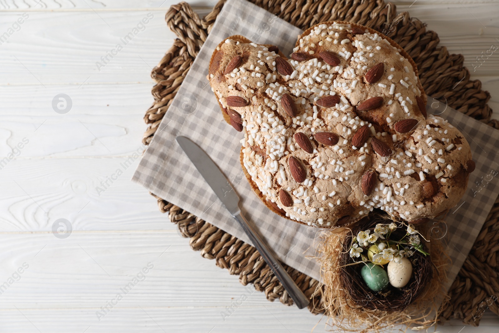
[{"label": "round brown woven wicker placemat under the checkered napkin", "polygon": [[[166,22],[178,39],[151,73],[157,84],[152,89],[155,101],[144,117],[149,125],[142,139],[144,144],[151,142],[224,2],[225,0],[220,0],[204,18],[200,18],[186,2],[173,5],[168,10]],[[499,128],[499,122],[491,119],[492,110],[487,105],[490,94],[482,90],[479,80],[470,80],[470,72],[463,66],[463,55],[449,54],[445,46],[438,45],[436,32],[427,30],[425,23],[411,18],[408,12],[396,14],[393,3],[385,3],[383,0],[251,2],[303,30],[322,21],[346,20],[385,33],[412,56],[428,95],[447,101],[449,106],[460,112]],[[201,255],[205,258],[216,259],[217,266],[228,269],[232,275],[239,275],[243,285],[252,283],[256,290],[265,292],[268,300],[278,298],[283,304],[292,304],[291,298],[277,279],[271,276],[255,248],[152,195],[158,200],[161,212],[169,212],[170,221],[177,224],[182,236],[190,238],[193,250],[201,250]],[[466,324],[477,326],[485,309],[499,315],[498,217],[499,197],[449,291],[451,302],[440,316],[441,321],[458,318]],[[291,267],[286,269],[307,296],[313,295],[309,310],[312,313],[321,312],[322,289],[319,282]]]}]

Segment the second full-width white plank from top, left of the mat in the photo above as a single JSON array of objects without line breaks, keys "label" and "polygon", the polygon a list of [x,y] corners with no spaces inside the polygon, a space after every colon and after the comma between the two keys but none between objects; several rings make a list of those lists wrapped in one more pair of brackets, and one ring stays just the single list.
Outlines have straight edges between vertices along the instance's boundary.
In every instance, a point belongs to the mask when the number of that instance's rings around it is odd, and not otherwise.
[{"label": "second full-width white plank from top, left of the mat", "polygon": [[[131,155],[147,128],[143,115],[154,101],[152,85],[0,86],[0,156],[23,138],[30,142],[20,159]],[[52,106],[60,93],[69,96],[66,107],[72,104],[65,114]]]}]

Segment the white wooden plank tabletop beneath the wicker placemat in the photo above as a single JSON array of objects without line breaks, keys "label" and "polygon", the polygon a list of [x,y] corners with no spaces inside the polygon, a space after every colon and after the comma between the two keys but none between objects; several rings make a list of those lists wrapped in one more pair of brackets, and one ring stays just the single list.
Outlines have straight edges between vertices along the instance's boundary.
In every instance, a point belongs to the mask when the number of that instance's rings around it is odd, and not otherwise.
[{"label": "white wooden plank tabletop beneath the wicker placemat", "polygon": [[[0,0],[0,332],[309,332],[319,321],[322,332],[320,316],[261,293],[223,320],[244,287],[193,252],[129,180],[138,162],[123,163],[141,149],[149,73],[175,37],[164,15],[177,0],[38,1]],[[499,45],[499,1],[394,2],[465,55],[499,111],[499,54],[472,65]],[[192,4],[204,13],[213,6]],[[117,43],[123,49],[97,66]],[[72,101],[67,113],[52,108],[58,94]],[[54,236],[58,219],[70,222],[70,237]],[[137,274],[142,281],[123,292]],[[452,324],[440,331],[464,327]],[[463,332],[498,325],[486,314]]]}]

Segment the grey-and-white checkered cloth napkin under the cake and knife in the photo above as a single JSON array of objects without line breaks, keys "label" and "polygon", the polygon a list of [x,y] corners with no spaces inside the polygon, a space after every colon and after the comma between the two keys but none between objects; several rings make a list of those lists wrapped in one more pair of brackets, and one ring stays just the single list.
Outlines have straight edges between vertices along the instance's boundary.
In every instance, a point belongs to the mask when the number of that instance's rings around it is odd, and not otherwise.
[{"label": "grey-and-white checkered cloth napkin under the cake and knife", "polygon": [[[213,50],[230,35],[240,34],[259,44],[277,45],[284,54],[290,54],[296,36],[301,32],[246,0],[228,0],[156,131],[153,142],[144,153],[133,181],[250,243],[175,140],[179,135],[191,138],[211,156],[236,188],[241,196],[243,214],[256,226],[279,260],[319,280],[320,265],[308,257],[314,256],[314,238],[319,229],[279,217],[253,193],[239,162],[243,133],[236,132],[224,121],[217,98],[206,79]],[[442,106],[440,110],[443,110]],[[443,111],[442,116],[466,135],[473,159],[477,162],[477,170],[470,177],[469,189],[459,208],[449,213],[449,228],[436,226],[440,234],[434,233],[438,237],[445,233],[450,240],[448,251],[454,261],[449,273],[451,284],[498,196],[499,177],[492,177],[480,187],[476,182],[485,179],[492,169],[497,167],[499,170],[495,163],[499,132],[449,108]]]}]

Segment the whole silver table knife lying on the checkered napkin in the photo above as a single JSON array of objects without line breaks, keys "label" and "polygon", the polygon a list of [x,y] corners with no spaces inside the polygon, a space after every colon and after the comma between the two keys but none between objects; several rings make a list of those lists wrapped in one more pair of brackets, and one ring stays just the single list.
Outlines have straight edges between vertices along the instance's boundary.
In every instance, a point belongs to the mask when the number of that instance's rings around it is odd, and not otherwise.
[{"label": "whole silver table knife lying on the checkered napkin", "polygon": [[256,250],[267,263],[270,270],[280,281],[289,296],[293,299],[298,309],[308,306],[310,300],[303,294],[284,267],[277,260],[273,252],[266,246],[254,227],[241,214],[239,208],[240,198],[232,184],[227,180],[220,168],[213,162],[210,156],[191,139],[185,136],[177,136],[177,142],[192,161],[196,169],[201,173],[205,181],[210,185],[217,197],[222,201],[232,217],[238,221],[245,233],[250,238]]}]

